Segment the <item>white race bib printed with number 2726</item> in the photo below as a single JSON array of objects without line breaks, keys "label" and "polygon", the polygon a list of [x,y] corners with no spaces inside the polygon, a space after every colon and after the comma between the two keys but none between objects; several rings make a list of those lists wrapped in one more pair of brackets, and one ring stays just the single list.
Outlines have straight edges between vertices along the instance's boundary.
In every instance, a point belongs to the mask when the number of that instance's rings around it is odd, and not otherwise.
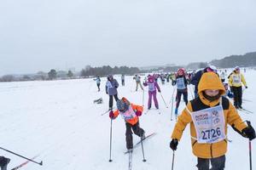
[{"label": "white race bib printed with number 2726", "polygon": [[226,139],[222,105],[192,112],[191,116],[198,143],[212,144]]}]

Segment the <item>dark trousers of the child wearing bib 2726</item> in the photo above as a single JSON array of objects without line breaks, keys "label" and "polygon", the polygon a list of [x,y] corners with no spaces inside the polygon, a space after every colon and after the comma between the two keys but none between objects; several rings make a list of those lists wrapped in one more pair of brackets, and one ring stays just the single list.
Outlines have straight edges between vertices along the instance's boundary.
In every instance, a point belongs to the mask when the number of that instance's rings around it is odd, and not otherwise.
[{"label": "dark trousers of the child wearing bib 2726", "polygon": [[[212,168],[210,169],[210,161]],[[197,165],[198,170],[224,170],[225,167],[225,156],[219,156],[212,159],[205,159],[205,158],[197,158]]]}]

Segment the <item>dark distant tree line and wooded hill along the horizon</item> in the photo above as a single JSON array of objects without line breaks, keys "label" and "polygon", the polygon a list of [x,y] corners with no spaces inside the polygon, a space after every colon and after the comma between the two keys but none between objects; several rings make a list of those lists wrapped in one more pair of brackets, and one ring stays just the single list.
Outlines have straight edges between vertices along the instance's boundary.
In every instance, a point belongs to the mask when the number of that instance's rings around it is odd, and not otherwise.
[{"label": "dark distant tree line and wooded hill along the horizon", "polygon": [[[256,52],[247,53],[244,55],[230,55],[224,59],[214,59],[209,62],[218,68],[232,68],[235,66],[248,67],[256,66]],[[4,75],[0,77],[0,82],[14,82],[14,81],[33,81],[33,80],[55,80],[55,79],[71,79],[71,78],[86,78],[86,77],[106,77],[109,74],[125,74],[134,75],[137,73],[147,72],[173,72],[177,71],[180,67],[185,67],[188,70],[195,70],[204,68],[207,66],[207,62],[195,62],[189,65],[173,65],[173,66],[160,66],[149,70],[140,70],[138,67],[128,66],[114,66],[103,65],[101,67],[91,67],[86,65],[82,71],[55,71],[51,69],[49,72],[38,71],[37,74],[22,75],[21,77],[15,77],[15,75]]]}]

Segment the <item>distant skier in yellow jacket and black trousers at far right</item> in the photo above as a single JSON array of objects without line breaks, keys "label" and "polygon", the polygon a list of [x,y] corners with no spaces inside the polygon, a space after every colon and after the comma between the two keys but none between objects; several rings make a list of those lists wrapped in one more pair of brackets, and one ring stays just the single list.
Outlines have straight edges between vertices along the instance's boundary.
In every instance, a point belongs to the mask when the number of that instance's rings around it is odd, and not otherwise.
[{"label": "distant skier in yellow jacket and black trousers at far right", "polygon": [[229,84],[230,84],[230,91],[234,93],[234,105],[236,109],[242,109],[241,107],[241,96],[242,96],[242,90],[241,90],[241,82],[247,88],[247,82],[245,81],[245,78],[243,74],[240,72],[240,68],[238,66],[235,67],[235,71],[233,71],[230,74],[229,77]]}]

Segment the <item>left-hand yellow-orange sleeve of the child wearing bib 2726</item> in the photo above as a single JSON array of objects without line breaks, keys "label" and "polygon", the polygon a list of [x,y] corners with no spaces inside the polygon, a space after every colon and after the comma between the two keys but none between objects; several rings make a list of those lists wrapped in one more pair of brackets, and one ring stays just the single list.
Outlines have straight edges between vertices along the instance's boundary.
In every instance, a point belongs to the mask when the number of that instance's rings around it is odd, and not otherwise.
[{"label": "left-hand yellow-orange sleeve of the child wearing bib 2726", "polygon": [[[188,109],[191,108],[191,104],[187,105]],[[189,109],[190,111],[191,109]],[[192,118],[190,116],[190,113],[186,110],[186,108],[183,110],[182,114],[177,117],[177,122],[175,124],[175,127],[172,131],[172,139],[180,140],[183,135],[183,131],[186,128],[187,124],[192,122]]]}]

